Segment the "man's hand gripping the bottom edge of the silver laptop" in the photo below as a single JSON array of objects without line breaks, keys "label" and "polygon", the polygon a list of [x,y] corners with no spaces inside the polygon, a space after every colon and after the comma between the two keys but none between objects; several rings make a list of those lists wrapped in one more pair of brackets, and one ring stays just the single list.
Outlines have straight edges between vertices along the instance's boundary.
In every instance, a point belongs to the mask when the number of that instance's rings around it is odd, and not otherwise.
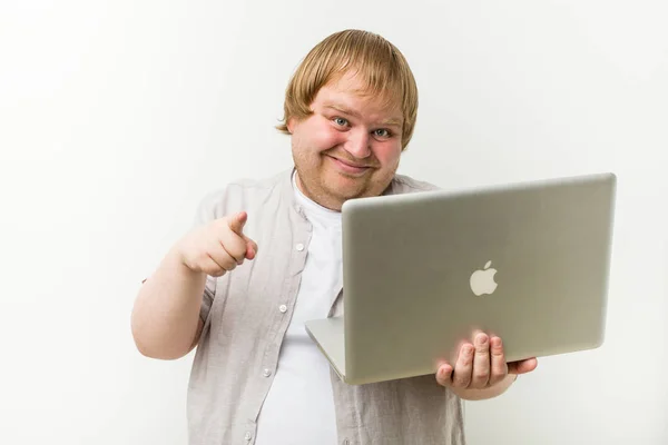
[{"label": "man's hand gripping the bottom edge of the silver laptop", "polygon": [[507,363],[501,338],[479,332],[473,344],[461,346],[454,367],[445,362],[439,366],[436,382],[455,392],[488,389],[500,386],[509,374],[527,374],[537,366],[536,358]]}]

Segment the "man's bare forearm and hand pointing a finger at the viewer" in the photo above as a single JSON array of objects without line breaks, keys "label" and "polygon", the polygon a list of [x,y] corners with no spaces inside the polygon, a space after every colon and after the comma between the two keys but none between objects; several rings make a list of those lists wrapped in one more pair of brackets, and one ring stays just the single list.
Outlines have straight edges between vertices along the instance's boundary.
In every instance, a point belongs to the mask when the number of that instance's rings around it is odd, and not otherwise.
[{"label": "man's bare forearm and hand pointing a finger at the viewer", "polygon": [[247,214],[216,219],[173,247],[135,301],[135,344],[151,358],[175,359],[199,342],[207,276],[220,277],[253,259],[257,244],[243,234]]}]

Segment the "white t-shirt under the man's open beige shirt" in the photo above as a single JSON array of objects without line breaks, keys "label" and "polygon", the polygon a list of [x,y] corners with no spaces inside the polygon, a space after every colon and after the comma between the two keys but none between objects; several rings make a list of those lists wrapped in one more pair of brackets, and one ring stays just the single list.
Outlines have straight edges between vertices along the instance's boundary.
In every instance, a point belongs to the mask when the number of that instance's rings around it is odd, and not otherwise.
[{"label": "white t-shirt under the man's open beige shirt", "polygon": [[313,225],[296,307],[285,334],[274,383],[258,418],[256,445],[334,445],[336,417],[330,363],[304,322],[325,318],[342,285],[341,212],[304,196],[297,201]]}]

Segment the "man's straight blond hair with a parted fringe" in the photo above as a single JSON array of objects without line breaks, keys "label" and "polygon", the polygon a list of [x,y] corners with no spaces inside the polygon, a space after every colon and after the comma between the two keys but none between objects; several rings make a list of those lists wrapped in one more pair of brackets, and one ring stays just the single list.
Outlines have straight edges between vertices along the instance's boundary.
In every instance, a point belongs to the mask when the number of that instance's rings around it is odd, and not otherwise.
[{"label": "man's straight blond hair with a parted fringe", "polygon": [[366,85],[365,93],[396,105],[403,115],[402,150],[406,148],[418,117],[418,86],[401,51],[383,37],[348,29],[333,33],[306,55],[285,91],[284,118],[276,128],[289,135],[287,122],[313,113],[311,103],[322,87],[355,70]]}]

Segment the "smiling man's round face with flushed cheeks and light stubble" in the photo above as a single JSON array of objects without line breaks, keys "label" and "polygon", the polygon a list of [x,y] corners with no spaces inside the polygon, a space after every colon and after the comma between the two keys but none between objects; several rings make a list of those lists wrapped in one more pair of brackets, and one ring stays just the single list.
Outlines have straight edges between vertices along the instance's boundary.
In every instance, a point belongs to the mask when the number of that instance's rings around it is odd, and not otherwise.
[{"label": "smiling man's round face with flushed cheeks and light stubble", "polygon": [[287,125],[299,189],[333,210],[351,198],[381,195],[399,167],[401,110],[361,95],[363,87],[345,75],[321,88],[313,115]]}]

